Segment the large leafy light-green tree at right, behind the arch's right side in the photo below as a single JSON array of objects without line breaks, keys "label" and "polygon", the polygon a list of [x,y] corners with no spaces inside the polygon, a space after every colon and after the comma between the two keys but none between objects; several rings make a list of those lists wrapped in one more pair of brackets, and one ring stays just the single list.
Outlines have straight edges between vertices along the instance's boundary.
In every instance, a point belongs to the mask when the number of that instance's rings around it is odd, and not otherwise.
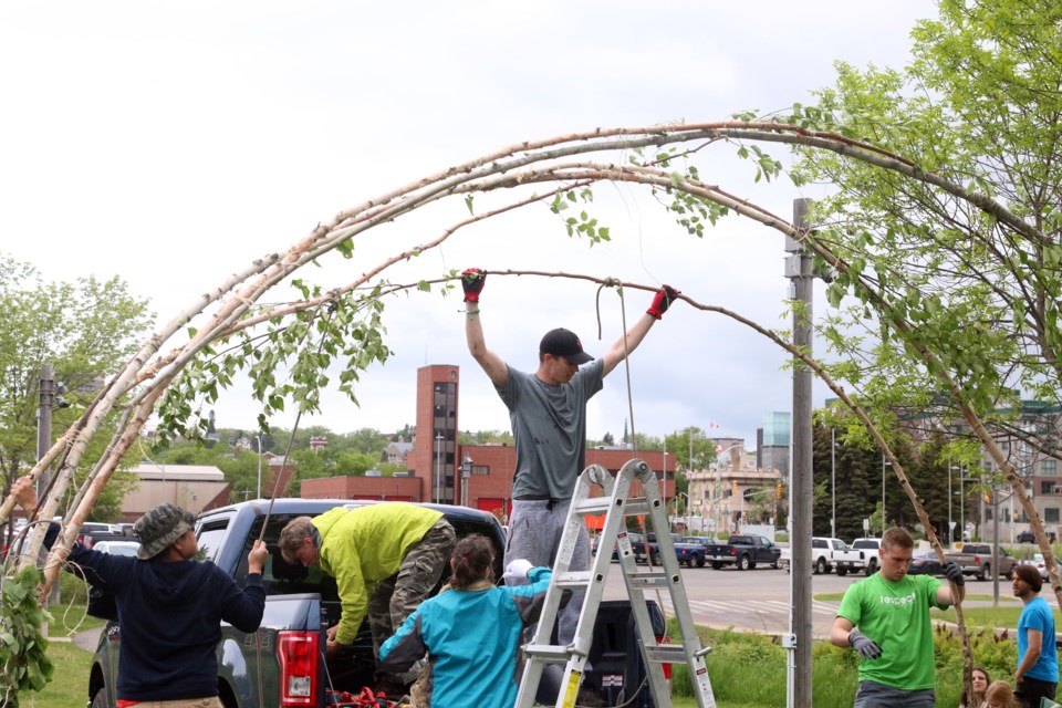
[{"label": "large leafy light-green tree at right, behind the arch's right side", "polygon": [[[836,187],[816,205],[815,240],[846,264],[830,298],[847,304],[824,329],[846,378],[883,416],[920,413],[979,442],[944,450],[949,464],[988,448],[1027,512],[1021,470],[991,448],[1062,457],[1060,27],[1062,8],[1043,0],[944,0],[916,25],[908,66],[840,63],[836,85],[790,116],[910,167],[799,152],[800,181]],[[1021,398],[1040,402],[1035,425]]]}]

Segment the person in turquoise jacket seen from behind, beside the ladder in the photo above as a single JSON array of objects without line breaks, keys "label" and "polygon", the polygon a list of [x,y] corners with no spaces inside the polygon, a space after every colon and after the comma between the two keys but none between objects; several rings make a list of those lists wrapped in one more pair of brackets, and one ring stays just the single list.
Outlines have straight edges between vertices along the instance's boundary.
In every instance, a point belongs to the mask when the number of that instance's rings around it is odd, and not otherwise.
[{"label": "person in turquoise jacket seen from behind, beside the ladder", "polygon": [[379,649],[381,665],[404,671],[428,655],[431,706],[483,708],[517,702],[517,648],[528,623],[542,612],[552,572],[525,560],[506,577],[528,585],[496,586],[493,546],[473,534],[450,556],[450,590],[426,600]]}]

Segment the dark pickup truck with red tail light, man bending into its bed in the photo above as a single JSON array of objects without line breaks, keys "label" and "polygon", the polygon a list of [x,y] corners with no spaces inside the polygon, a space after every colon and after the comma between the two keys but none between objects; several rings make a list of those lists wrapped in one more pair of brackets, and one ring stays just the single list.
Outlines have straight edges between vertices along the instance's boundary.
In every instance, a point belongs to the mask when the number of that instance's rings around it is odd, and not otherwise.
[{"label": "dark pickup truck with red tail light, man bending into its bed", "polygon": [[[285,563],[277,546],[280,530],[295,517],[313,517],[337,506],[365,503],[373,502],[334,499],[275,501],[264,535],[270,558],[262,573],[267,597],[261,628],[247,634],[227,624],[221,627],[217,652],[218,687],[225,708],[322,708],[335,702],[330,700],[329,691],[350,691],[357,696],[364,686],[373,685],[373,642],[368,624],[362,625],[352,644],[325,662],[325,631],[340,618],[335,580],[322,573],[319,566],[308,569]],[[493,514],[467,507],[425,506],[445,513],[458,538],[481,533],[491,539],[498,559],[494,575],[501,576],[504,537]],[[196,535],[200,552],[205,554],[204,561],[216,563],[242,583],[247,576],[247,554],[261,533],[267,508],[268,502],[248,501],[199,517]],[[88,677],[91,708],[115,705],[121,641],[122,627],[116,622],[108,623],[92,658]]]}]

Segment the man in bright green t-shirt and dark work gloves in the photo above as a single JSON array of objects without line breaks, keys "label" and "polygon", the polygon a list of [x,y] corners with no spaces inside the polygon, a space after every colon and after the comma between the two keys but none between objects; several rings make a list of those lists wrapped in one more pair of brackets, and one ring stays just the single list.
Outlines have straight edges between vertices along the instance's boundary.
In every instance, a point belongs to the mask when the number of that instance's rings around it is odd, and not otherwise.
[{"label": "man in bright green t-shirt and dark work gloves", "polygon": [[[881,570],[844,593],[830,629],[836,646],[851,646],[860,662],[855,708],[933,708],[936,666],[929,607],[946,610],[966,594],[962,569],[944,566],[952,585],[933,575],[907,575],[915,542],[906,530],[888,529],[877,551]],[[855,627],[858,627],[856,629]]]}]

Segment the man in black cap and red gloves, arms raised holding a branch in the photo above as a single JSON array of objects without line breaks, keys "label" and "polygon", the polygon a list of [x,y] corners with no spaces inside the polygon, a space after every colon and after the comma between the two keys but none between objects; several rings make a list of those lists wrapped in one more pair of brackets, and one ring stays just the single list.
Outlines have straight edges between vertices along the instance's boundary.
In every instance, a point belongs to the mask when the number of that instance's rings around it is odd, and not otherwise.
[{"label": "man in black cap and red gloves, arms raised holding a branch", "polygon": [[[601,391],[602,379],[637,348],[679,291],[664,285],[646,313],[598,360],[583,351],[574,333],[564,329],[546,332],[539,344],[539,368],[532,375],[512,368],[487,348],[479,317],[479,295],[486,280],[487,272],[477,268],[461,273],[468,351],[509,408],[516,439],[517,469],[504,562],[527,559],[532,565],[552,568],[575,481],[586,466],[586,402]],[[579,368],[582,364],[587,366]],[[571,570],[589,568],[590,538],[584,528]],[[575,592],[558,618],[560,644],[571,643],[575,635],[584,592]]]}]

